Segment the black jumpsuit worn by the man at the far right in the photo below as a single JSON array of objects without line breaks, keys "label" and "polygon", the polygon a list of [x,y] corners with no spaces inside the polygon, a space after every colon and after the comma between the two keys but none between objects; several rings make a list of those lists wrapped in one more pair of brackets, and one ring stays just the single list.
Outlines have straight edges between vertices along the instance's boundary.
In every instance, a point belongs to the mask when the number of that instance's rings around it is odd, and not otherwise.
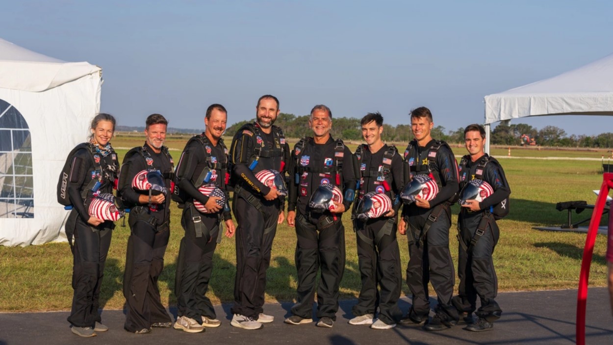
[{"label": "black jumpsuit worn by the man at the far right", "polygon": [[[485,153],[487,157],[487,153]],[[465,157],[466,166],[460,165],[460,186],[475,178],[478,161],[472,162],[470,156]],[[463,160],[464,161],[464,160]],[[498,280],[494,270],[492,254],[500,237],[498,225],[490,214],[490,207],[508,198],[511,188],[504,176],[504,171],[498,161],[490,160],[483,169],[482,177],[489,183],[494,193],[479,203],[481,211],[470,212],[462,207],[458,217],[458,227],[463,245],[459,245],[458,276],[460,277],[459,295],[453,298],[455,307],[460,312],[474,312],[477,296],[481,306],[476,312],[488,322],[500,317],[501,309],[494,300],[498,292]],[[486,217],[487,228],[474,246],[466,248],[473,239],[479,223]]]}]

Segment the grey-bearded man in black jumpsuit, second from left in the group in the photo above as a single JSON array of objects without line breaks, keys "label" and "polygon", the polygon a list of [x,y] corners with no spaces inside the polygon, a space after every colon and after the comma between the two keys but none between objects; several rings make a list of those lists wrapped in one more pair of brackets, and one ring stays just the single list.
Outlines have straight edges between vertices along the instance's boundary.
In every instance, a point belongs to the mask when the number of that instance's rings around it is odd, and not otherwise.
[{"label": "grey-bearded man in black jumpsuit, second from left in the group", "polygon": [[[124,328],[132,333],[149,333],[151,327],[170,327],[172,319],[160,301],[158,278],[164,268],[164,252],[170,236],[170,194],[150,196],[147,192],[135,192],[132,179],[145,169],[158,169],[164,176],[170,191],[172,158],[164,146],[167,120],[160,114],[147,117],[145,136],[147,141],[142,153],[129,160],[126,181],[121,189],[123,200],[131,205],[129,225],[131,230],[126,254],[124,296],[126,297],[126,322]],[[120,180],[123,180],[121,177]]]}]

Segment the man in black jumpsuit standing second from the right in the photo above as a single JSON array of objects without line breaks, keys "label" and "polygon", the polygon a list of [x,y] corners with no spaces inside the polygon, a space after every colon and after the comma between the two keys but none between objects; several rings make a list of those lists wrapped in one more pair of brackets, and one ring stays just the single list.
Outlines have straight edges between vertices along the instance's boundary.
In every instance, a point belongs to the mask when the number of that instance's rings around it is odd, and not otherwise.
[{"label": "man in black jumpsuit standing second from the right", "polygon": [[458,313],[451,304],[454,292],[454,265],[449,252],[451,209],[449,200],[457,193],[457,165],[449,145],[432,139],[432,113],[426,107],[411,111],[414,140],[405,150],[407,183],[416,174],[430,174],[439,192],[433,200],[416,198],[403,207],[398,232],[408,236],[409,263],[406,284],[413,294],[413,306],[401,321],[421,324],[428,320],[430,301],[428,281],[436,292],[435,316],[424,325],[428,331],[444,330],[457,324]]}]

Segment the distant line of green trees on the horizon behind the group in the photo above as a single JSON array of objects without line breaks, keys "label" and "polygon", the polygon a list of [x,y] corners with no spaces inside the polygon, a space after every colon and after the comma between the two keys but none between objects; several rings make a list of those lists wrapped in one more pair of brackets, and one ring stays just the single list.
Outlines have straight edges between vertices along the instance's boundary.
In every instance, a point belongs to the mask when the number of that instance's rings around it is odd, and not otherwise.
[{"label": "distant line of green trees on the horizon behind the group", "polygon": [[[280,113],[275,125],[280,126],[287,138],[302,138],[310,136],[311,130],[308,128],[309,115],[296,116],[294,114]],[[226,130],[227,135],[234,135],[240,126],[249,121],[234,123]],[[413,139],[411,125],[391,126],[384,124],[383,140],[392,142],[408,142]],[[332,130],[333,138],[343,140],[361,141],[362,130],[360,119],[355,117],[335,117],[333,118]],[[522,136],[524,140],[522,140]],[[528,137],[528,140],[526,139]],[[464,128],[457,130],[446,130],[443,126],[435,126],[432,129],[432,138],[444,140],[450,143],[460,143],[464,141]],[[613,133],[602,133],[597,136],[587,135],[566,135],[566,131],[556,126],[544,126],[541,130],[525,123],[517,123],[509,126],[498,125],[492,130],[490,139],[493,145],[529,145],[533,139],[536,145],[559,146],[559,147],[613,147]]]}]

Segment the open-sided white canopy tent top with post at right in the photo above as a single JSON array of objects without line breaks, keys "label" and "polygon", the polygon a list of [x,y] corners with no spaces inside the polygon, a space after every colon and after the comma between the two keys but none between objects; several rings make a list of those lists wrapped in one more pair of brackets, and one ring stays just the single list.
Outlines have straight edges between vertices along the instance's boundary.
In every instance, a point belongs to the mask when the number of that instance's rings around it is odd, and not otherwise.
[{"label": "open-sided white canopy tent top with post at right", "polygon": [[539,115],[613,115],[613,54],[559,76],[485,96],[490,124]]}]

